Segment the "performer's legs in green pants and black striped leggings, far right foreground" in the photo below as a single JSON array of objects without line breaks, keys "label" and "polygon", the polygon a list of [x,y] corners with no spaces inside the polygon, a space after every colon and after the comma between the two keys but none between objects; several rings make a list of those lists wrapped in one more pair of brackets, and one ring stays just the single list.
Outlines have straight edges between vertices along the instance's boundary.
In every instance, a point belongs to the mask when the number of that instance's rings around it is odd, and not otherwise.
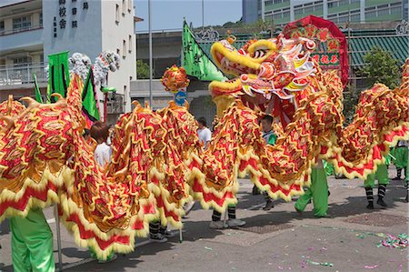
[{"label": "performer's legs in green pants and black striped leggings, far right foreground", "polygon": [[364,181],[364,188],[366,192],[366,198],[368,199],[368,205],[366,208],[374,209],[374,180],[378,180],[378,200],[376,204],[382,207],[387,207],[384,203],[384,196],[386,194],[386,186],[389,184],[388,169],[386,165],[378,166],[375,174],[368,175]]}]

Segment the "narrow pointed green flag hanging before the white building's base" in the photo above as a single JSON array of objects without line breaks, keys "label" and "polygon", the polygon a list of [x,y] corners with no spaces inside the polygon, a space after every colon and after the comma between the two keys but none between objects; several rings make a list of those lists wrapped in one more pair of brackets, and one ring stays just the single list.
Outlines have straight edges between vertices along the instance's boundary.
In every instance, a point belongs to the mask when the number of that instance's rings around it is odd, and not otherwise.
[{"label": "narrow pointed green flag hanging before the white building's base", "polygon": [[92,68],[89,69],[88,76],[86,77],[82,98],[85,116],[93,123],[98,121],[100,116],[99,109],[96,106],[94,73]]}]

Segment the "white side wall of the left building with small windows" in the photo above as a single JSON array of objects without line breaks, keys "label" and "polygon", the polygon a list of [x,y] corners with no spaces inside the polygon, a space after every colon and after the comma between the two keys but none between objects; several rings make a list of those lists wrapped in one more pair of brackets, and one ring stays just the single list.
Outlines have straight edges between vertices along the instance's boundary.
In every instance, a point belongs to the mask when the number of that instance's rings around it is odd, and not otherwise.
[{"label": "white side wall of the left building with small windows", "polygon": [[[117,9],[118,8],[118,9]],[[102,50],[120,56],[120,68],[108,76],[108,85],[124,95],[125,112],[131,111],[130,81],[136,79],[134,4],[131,0],[102,1]]]}]

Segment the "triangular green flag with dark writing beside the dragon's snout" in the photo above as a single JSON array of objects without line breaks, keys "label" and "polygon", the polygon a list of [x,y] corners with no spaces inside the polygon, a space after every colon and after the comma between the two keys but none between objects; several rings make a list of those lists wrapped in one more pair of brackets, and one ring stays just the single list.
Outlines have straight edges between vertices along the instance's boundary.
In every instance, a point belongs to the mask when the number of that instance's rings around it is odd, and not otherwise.
[{"label": "triangular green flag with dark writing beside the dragon's snout", "polygon": [[182,44],[182,66],[185,68],[187,75],[206,81],[223,81],[227,79],[212,60],[205,55],[200,45],[197,44],[195,36],[185,21]]}]

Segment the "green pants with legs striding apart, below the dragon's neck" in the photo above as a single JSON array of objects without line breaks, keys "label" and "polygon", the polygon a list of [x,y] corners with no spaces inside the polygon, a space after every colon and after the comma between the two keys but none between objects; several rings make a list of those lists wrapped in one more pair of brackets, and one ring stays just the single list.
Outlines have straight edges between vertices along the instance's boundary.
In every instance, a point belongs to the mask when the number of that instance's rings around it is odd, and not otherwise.
[{"label": "green pants with legs striding apart, below the dragon's neck", "polygon": [[323,168],[313,168],[311,173],[311,186],[305,190],[295,202],[294,207],[299,211],[304,211],[310,199],[313,198],[314,216],[326,217],[328,211],[328,184]]}]

